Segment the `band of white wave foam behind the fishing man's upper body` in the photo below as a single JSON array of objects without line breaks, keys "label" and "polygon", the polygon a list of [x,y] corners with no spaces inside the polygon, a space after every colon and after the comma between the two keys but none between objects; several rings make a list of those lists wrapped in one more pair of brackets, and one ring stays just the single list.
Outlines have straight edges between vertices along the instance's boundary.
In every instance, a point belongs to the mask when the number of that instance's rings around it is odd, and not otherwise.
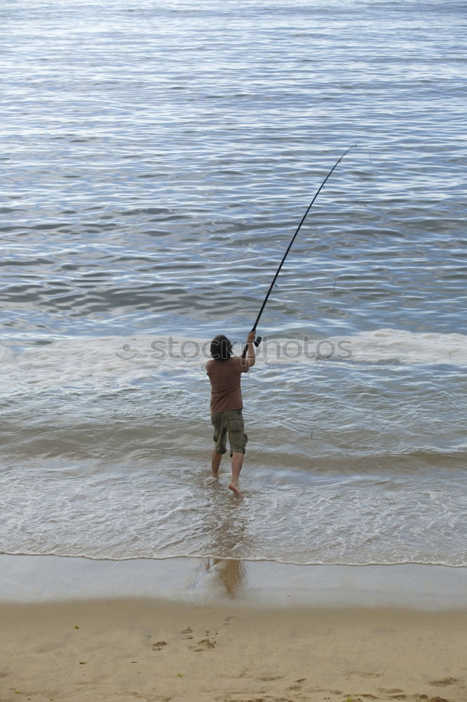
[{"label": "band of white wave foam behind the fishing man's upper body", "polygon": [[[241,345],[236,347],[239,352]],[[0,380],[16,388],[57,388],[74,383],[117,384],[152,373],[203,369],[209,342],[182,337],[80,337],[15,352],[0,347]],[[355,336],[322,339],[266,338],[257,350],[258,366],[290,362],[452,364],[467,366],[467,336],[377,329]]]}]

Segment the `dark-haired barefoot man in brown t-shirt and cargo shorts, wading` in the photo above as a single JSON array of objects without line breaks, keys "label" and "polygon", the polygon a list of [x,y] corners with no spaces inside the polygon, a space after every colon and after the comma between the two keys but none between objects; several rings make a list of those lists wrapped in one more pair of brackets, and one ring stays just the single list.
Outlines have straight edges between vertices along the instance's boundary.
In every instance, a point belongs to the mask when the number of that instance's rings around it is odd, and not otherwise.
[{"label": "dark-haired barefoot man in brown t-shirt and cargo shorts, wading", "polygon": [[247,338],[247,357],[232,356],[229,339],[220,334],[212,339],[212,361],[206,364],[206,373],[211,381],[211,422],[214,427],[215,449],[212,451],[212,475],[219,477],[222,454],[226,453],[226,434],[229,435],[232,475],[229,490],[242,496],[238,489],[238,476],[242,470],[243,454],[248,437],[245,434],[242,416],[241,374],[255,365],[255,332]]}]

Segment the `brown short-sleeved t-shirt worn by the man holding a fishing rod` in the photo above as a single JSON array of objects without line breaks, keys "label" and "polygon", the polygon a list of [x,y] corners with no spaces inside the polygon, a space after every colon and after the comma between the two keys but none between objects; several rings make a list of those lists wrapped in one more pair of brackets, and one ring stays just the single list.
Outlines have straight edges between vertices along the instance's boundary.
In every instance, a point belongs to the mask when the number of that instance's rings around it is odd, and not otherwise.
[{"label": "brown short-sleeved t-shirt worn by the man holding a fishing rod", "polygon": [[243,409],[240,380],[248,373],[246,359],[233,356],[228,361],[208,361],[206,373],[211,381],[211,414],[228,409]]}]

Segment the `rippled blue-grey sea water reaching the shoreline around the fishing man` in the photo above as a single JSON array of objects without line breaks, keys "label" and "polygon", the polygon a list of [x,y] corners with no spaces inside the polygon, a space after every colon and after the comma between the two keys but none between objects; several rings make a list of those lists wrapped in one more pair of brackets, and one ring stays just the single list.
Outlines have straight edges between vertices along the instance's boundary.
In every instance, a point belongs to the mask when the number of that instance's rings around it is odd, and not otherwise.
[{"label": "rippled blue-grey sea water reaching the shoreline around the fishing man", "polygon": [[0,552],[467,566],[466,10],[1,4]]}]

